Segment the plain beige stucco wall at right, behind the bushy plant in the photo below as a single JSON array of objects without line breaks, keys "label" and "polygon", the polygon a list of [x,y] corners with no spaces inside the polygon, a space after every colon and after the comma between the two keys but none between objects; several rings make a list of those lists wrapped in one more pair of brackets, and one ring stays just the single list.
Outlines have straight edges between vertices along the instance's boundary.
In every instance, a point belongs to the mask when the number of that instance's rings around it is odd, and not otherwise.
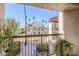
[{"label": "plain beige stucco wall at right, behind the bushy plant", "polygon": [[79,9],[64,11],[64,31],[66,40],[74,44],[73,55],[79,55]]}]

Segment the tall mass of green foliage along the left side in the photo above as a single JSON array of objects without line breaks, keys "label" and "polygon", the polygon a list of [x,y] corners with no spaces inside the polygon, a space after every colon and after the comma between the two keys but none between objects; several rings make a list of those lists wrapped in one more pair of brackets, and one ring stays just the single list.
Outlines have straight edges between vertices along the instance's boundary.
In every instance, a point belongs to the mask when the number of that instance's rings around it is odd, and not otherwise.
[{"label": "tall mass of green foliage along the left side", "polygon": [[[17,49],[20,49],[20,44],[16,46],[16,44],[13,42],[13,39],[11,38],[12,35],[16,34],[17,29],[19,25],[15,21],[15,19],[7,19],[7,25],[3,27],[3,33],[0,35],[0,42],[1,46],[0,48],[3,48],[4,51],[8,50],[8,55],[15,55]],[[16,47],[16,48],[15,48]],[[13,52],[13,54],[11,54]],[[6,52],[5,52],[6,53]]]}]

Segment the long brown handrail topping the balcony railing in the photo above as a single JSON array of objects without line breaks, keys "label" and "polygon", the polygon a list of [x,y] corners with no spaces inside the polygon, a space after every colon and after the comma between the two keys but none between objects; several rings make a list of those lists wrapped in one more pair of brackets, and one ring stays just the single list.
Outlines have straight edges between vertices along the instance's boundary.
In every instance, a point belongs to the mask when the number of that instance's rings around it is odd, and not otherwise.
[{"label": "long brown handrail topping the balcony railing", "polygon": [[12,38],[17,38],[17,37],[36,37],[36,36],[59,36],[62,34],[33,34],[33,35],[14,35]]}]

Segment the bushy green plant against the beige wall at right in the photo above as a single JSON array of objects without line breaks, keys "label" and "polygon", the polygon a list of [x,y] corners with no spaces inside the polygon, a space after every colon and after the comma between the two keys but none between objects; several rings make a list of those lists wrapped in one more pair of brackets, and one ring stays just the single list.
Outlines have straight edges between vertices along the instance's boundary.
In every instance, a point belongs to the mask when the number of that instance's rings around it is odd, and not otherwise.
[{"label": "bushy green plant against the beige wall at right", "polygon": [[55,43],[55,54],[58,56],[72,55],[73,45],[66,40],[58,40]]}]

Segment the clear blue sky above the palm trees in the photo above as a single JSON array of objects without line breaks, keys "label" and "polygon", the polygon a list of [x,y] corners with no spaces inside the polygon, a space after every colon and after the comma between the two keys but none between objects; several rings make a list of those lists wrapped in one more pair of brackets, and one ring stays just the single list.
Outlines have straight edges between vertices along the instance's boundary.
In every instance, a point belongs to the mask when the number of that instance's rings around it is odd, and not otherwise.
[{"label": "clear blue sky above the palm trees", "polygon": [[[50,11],[42,8],[32,7],[26,5],[26,15],[28,19],[36,17],[36,21],[42,22],[42,20],[48,21],[51,17],[58,16],[57,11]],[[5,6],[5,18],[15,18],[21,26],[24,26],[24,7],[22,4],[8,3]]]}]

